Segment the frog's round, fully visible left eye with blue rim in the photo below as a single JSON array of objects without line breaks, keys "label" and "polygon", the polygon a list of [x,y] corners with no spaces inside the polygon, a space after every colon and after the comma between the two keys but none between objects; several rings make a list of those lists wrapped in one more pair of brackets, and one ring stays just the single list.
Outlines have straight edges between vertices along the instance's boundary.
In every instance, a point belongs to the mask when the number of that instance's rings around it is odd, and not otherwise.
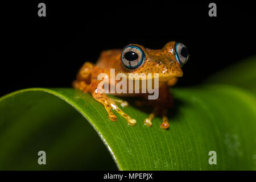
[{"label": "frog's round, fully visible left eye with blue rim", "polygon": [[127,69],[136,69],[144,63],[145,54],[142,49],[135,45],[126,46],[121,54],[123,66]]}]

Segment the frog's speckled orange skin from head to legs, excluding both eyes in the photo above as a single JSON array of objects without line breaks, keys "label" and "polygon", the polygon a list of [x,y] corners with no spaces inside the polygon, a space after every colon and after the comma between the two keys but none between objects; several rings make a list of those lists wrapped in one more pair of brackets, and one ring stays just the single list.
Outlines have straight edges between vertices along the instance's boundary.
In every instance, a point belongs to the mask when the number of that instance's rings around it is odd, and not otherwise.
[{"label": "frog's speckled orange skin from head to legs, excluding both eyes", "polygon": [[[175,58],[175,42],[168,42],[162,49],[148,49],[138,44],[133,44],[140,47],[144,54],[144,63],[136,69],[126,69],[123,67],[121,61],[122,49],[112,49],[108,51],[102,51],[97,63],[94,65],[92,63],[86,62],[77,73],[76,80],[73,81],[73,87],[83,90],[84,92],[89,92],[92,94],[93,98],[104,105],[106,111],[108,112],[109,119],[112,121],[117,121],[117,117],[113,113],[113,109],[116,110],[122,117],[126,118],[130,125],[136,125],[136,122],[124,113],[115,103],[105,94],[99,93],[98,84],[101,80],[97,80],[97,76],[100,73],[106,73],[110,78],[110,69],[115,69],[115,75],[118,73],[124,73],[127,77],[129,73],[158,73],[159,74],[159,98],[156,100],[146,100],[143,102],[138,102],[140,106],[151,106],[154,107],[154,117],[161,114],[163,117],[163,122],[160,125],[163,129],[168,129],[170,126],[168,123],[168,118],[166,117],[168,108],[173,107],[172,95],[170,93],[169,86],[173,86],[177,82],[177,77],[183,76],[180,64]],[[110,80],[110,79],[109,79]],[[118,81],[115,81],[117,84]],[[109,82],[110,84],[110,82]],[[127,90],[129,85],[127,85]],[[134,93],[123,93],[119,94],[121,96],[140,96],[147,98],[146,94],[134,94]],[[113,108],[113,105],[115,106]],[[151,119],[153,119],[151,114]]]}]

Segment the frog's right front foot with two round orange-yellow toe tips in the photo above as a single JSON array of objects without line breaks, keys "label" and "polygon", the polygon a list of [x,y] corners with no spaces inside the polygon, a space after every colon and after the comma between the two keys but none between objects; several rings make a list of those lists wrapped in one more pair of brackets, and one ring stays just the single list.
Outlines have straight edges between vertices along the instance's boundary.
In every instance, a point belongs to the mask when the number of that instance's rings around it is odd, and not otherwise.
[{"label": "frog's right front foot with two round orange-yellow toe tips", "polygon": [[[144,119],[144,124],[148,127],[152,127],[152,120],[158,114],[159,114],[159,107],[155,107],[154,111],[150,115],[148,115],[148,117],[146,119]],[[161,124],[161,127],[163,129],[168,129],[168,127],[170,126],[168,123],[168,118],[167,118],[166,114],[167,114],[167,109],[163,109],[162,110],[162,124]]]}]

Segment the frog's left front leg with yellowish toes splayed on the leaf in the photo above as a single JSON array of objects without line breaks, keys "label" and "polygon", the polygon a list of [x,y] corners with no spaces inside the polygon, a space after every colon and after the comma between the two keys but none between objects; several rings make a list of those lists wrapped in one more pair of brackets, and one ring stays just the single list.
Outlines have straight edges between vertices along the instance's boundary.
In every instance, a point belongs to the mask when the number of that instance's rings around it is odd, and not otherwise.
[{"label": "frog's left front leg with yellowish toes splayed on the leaf", "polygon": [[127,122],[129,123],[129,125],[134,126],[136,125],[136,120],[132,119],[129,115],[127,115],[125,112],[123,112],[118,106],[117,104],[115,104],[116,102],[118,104],[121,104],[123,106],[127,106],[127,102],[125,101],[121,101],[121,100],[115,100],[113,98],[109,98],[106,93],[104,93],[104,89],[102,88],[98,88],[98,84],[100,84],[101,80],[97,80],[97,77],[100,73],[104,73],[104,70],[99,68],[99,67],[95,67],[93,69],[92,72],[92,78],[91,78],[91,85],[90,85],[90,89],[91,89],[91,93],[93,98],[100,102],[102,105],[104,105],[105,110],[108,112],[109,115],[109,119],[112,121],[117,121],[117,116],[114,115],[112,109],[116,110],[117,113],[119,113],[120,115],[122,115],[122,117],[124,117]]}]

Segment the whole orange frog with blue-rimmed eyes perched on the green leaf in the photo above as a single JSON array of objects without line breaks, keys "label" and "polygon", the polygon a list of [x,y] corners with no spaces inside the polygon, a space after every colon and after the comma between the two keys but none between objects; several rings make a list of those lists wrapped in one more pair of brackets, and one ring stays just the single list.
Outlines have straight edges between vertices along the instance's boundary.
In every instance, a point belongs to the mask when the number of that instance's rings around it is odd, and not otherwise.
[{"label": "whole orange frog with blue-rimmed eyes perched on the green leaf", "polygon": [[[110,49],[102,51],[96,64],[85,62],[77,73],[76,80],[73,81],[73,88],[82,90],[84,93],[92,94],[94,100],[100,102],[108,113],[111,121],[117,121],[117,116],[113,110],[117,111],[131,126],[137,125],[136,119],[126,114],[121,107],[129,106],[127,101],[109,97],[106,92],[99,92],[98,85],[102,80],[98,75],[105,73],[110,77],[111,69],[117,73],[127,75],[130,73],[155,73],[158,74],[159,97],[155,100],[147,100],[146,93],[114,93],[115,96],[139,97],[142,100],[135,102],[140,107],[152,107],[151,113],[144,119],[144,125],[152,127],[152,120],[158,115],[162,116],[162,129],[168,129],[168,109],[174,107],[174,98],[170,91],[170,86],[174,86],[178,77],[183,76],[181,67],[187,62],[189,57],[188,49],[180,42],[168,42],[162,49],[144,48],[139,44],[129,44],[123,49]],[[147,78],[147,77],[146,77]],[[152,77],[151,77],[152,79]],[[110,81],[108,83],[110,85]],[[115,85],[118,81],[114,82]],[[112,83],[113,85],[113,83]],[[127,85],[129,89],[129,85]],[[118,105],[121,105],[119,107]]]}]

